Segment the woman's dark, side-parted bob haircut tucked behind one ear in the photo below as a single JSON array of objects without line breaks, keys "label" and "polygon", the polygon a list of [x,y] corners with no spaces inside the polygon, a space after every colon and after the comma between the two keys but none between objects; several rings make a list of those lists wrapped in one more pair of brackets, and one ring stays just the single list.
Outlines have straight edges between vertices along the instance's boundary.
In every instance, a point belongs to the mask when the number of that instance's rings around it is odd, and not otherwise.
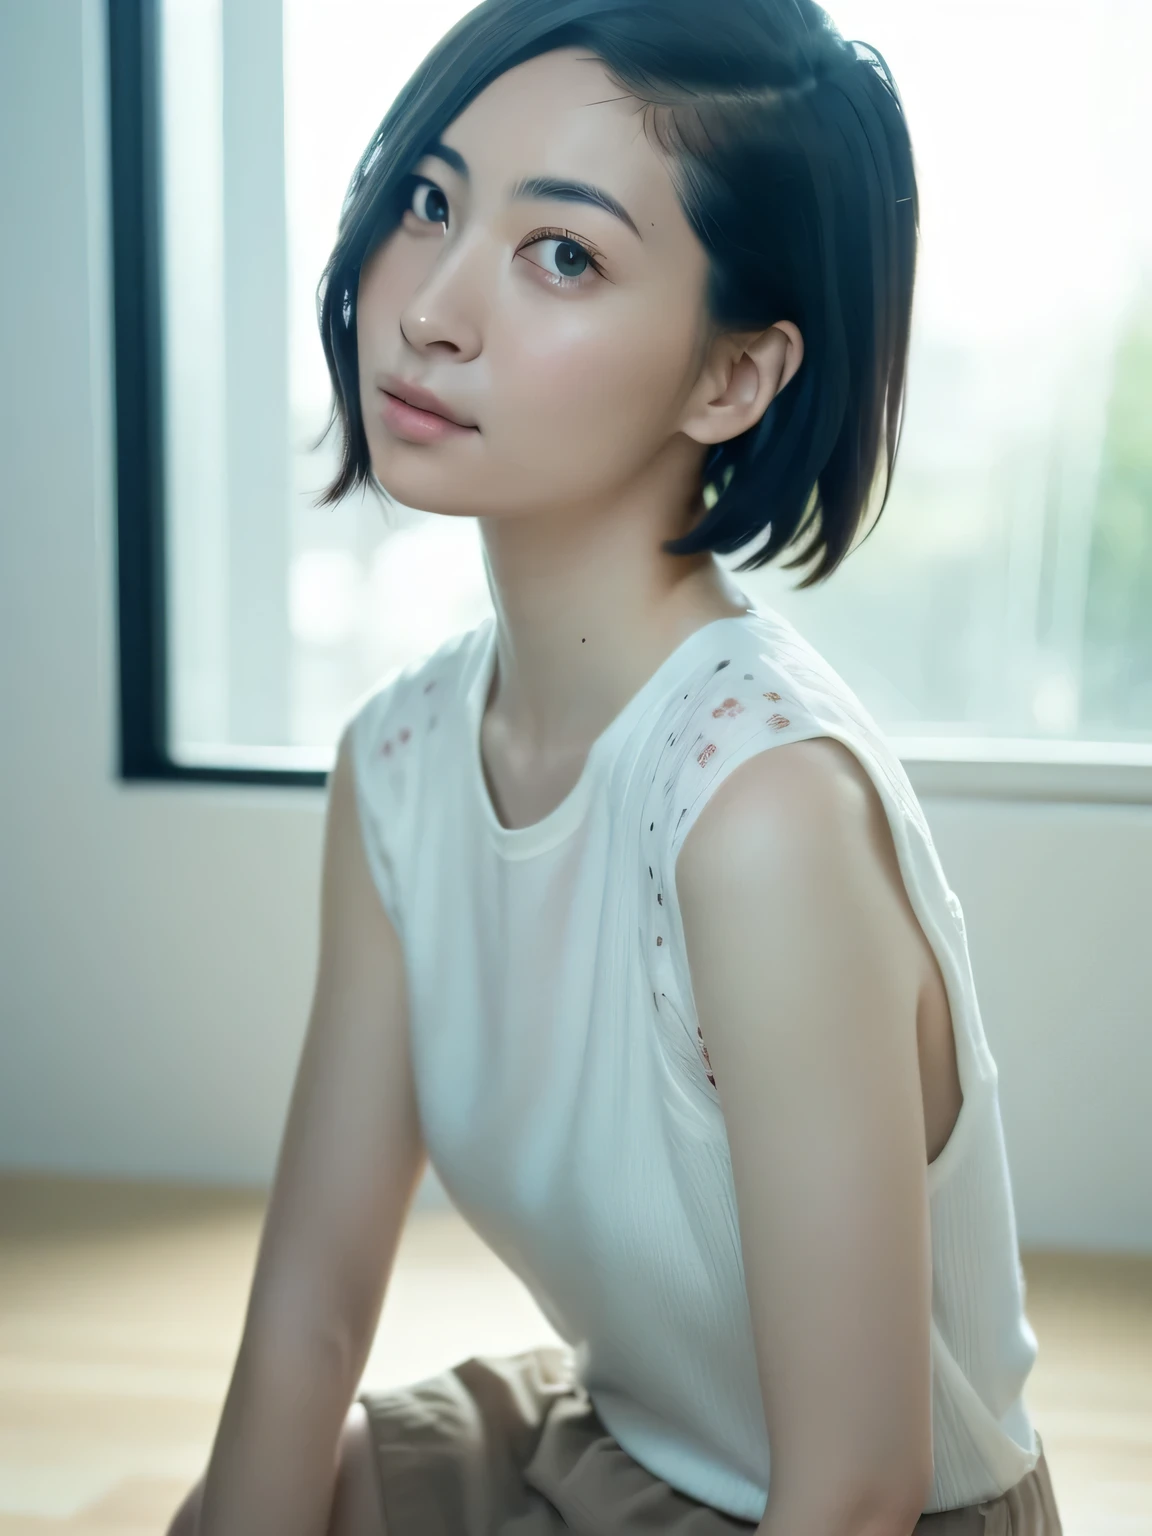
[{"label": "woman's dark, side-parted bob haircut tucked behind one ear", "polygon": [[[888,65],[845,41],[814,0],[484,0],[432,49],[352,175],[318,318],[343,461],[318,505],[366,482],[355,304],[364,261],[396,227],[409,177],[492,80],[571,45],[644,104],[676,197],[708,257],[713,332],[791,319],[800,367],[760,421],[713,447],[705,516],[670,554],[731,553],[739,570],[797,548],[823,581],[854,545],[886,461],[888,502],[908,366],[919,195]],[[868,528],[871,533],[871,527]],[[802,541],[805,541],[802,544]]]}]

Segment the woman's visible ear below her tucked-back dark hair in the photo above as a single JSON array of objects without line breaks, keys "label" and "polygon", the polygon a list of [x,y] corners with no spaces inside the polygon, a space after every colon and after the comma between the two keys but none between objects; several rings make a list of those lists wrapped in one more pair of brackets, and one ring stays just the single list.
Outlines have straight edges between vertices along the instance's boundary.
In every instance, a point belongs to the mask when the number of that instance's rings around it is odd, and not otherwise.
[{"label": "woman's visible ear below her tucked-back dark hair", "polygon": [[713,344],[680,432],[716,444],[754,427],[803,358],[803,336],[791,319],[765,330],[730,332]]}]

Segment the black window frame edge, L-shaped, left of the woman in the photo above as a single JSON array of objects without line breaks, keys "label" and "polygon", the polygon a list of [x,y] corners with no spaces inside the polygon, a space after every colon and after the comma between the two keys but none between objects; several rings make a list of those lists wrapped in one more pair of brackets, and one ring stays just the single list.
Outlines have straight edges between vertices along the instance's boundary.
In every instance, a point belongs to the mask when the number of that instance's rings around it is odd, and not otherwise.
[{"label": "black window frame edge, L-shaped, left of the woman", "polygon": [[160,0],[108,0],[118,773],[324,786],[315,768],[178,763],[169,745]]}]

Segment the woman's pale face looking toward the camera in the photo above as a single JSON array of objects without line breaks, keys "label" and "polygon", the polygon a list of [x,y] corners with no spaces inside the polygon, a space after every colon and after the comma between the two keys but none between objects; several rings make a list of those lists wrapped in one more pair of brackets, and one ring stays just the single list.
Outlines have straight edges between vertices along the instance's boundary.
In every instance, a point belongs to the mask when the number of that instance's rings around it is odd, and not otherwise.
[{"label": "woman's pale face looking toward the camera", "polygon": [[[639,103],[599,60],[558,49],[496,78],[441,144],[453,163],[412,167],[407,212],[359,280],[376,478],[404,505],[499,518],[587,505],[668,455],[694,482],[707,445],[680,422],[707,257]],[[587,183],[621,212],[516,192],[528,178]],[[410,441],[386,416],[393,379],[475,429]]]}]

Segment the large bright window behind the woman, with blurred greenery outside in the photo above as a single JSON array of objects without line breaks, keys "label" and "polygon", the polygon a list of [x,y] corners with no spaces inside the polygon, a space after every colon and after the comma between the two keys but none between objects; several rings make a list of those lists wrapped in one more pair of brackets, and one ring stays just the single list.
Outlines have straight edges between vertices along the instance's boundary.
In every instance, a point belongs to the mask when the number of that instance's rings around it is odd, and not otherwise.
[{"label": "large bright window behind the woman, with blurred greenery outside", "polygon": [[[313,505],[344,189],[467,9],[109,0],[129,776],[319,783],[350,702],[490,611],[475,522]],[[736,579],[920,785],[1152,799],[1152,12],[826,9],[891,63],[917,155],[903,438],[826,587]]]}]

